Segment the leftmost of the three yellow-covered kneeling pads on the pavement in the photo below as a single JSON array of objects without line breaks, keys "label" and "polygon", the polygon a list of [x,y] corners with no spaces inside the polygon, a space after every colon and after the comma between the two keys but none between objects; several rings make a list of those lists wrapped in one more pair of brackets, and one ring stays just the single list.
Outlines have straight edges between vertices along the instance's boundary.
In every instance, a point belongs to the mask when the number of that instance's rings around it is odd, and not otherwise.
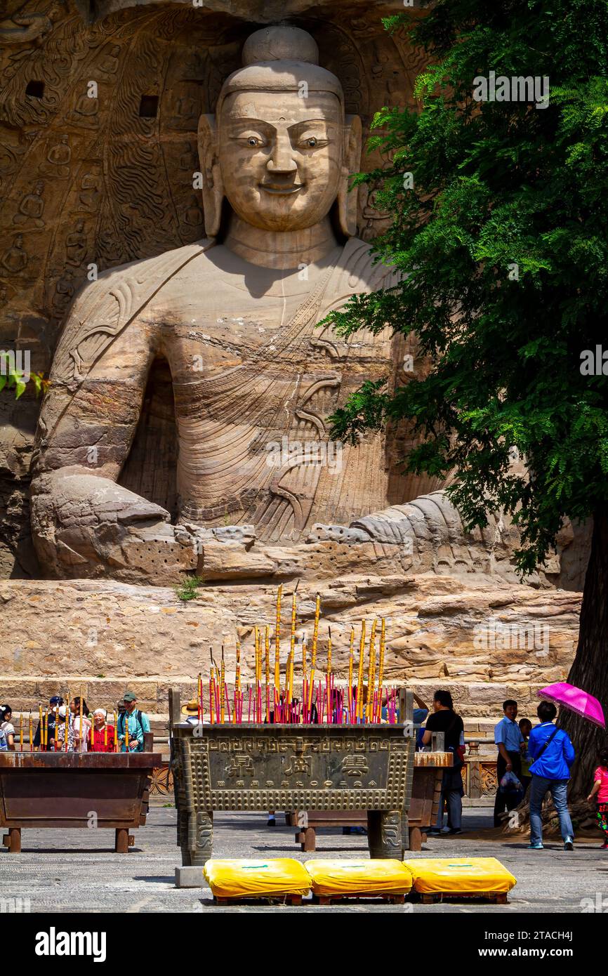
[{"label": "leftmost of the three yellow-covered kneeling pads on the pavement", "polygon": [[218,898],[307,895],[310,878],[300,861],[283,857],[261,861],[212,858],[203,874]]}]

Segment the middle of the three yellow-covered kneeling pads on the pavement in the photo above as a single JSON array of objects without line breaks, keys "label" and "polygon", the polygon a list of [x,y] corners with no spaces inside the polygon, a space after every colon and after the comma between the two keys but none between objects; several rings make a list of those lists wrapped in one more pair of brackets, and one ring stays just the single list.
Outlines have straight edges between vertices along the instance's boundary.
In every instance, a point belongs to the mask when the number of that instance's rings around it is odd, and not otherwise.
[{"label": "middle of the three yellow-covered kneeling pads on the pavement", "polygon": [[412,873],[400,861],[306,861],[315,895],[406,894],[412,888]]}]

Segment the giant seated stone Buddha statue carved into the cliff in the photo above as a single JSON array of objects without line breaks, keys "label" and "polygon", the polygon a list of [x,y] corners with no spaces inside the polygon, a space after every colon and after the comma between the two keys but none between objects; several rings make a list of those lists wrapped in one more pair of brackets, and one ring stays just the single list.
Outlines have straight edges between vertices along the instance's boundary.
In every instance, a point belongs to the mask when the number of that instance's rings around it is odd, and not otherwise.
[{"label": "giant seated stone Buddha statue carved into the cliff", "polygon": [[[384,435],[328,450],[328,418],[363,380],[394,375],[402,340],[318,327],[391,271],[354,236],[361,125],[317,61],[299,28],[252,34],[199,121],[205,239],[105,271],[73,302],[34,458],[46,575],[487,569],[503,546],[495,521],[465,541],[442,492],[400,497]],[[158,357],[175,397],[175,524],[118,483]]]}]

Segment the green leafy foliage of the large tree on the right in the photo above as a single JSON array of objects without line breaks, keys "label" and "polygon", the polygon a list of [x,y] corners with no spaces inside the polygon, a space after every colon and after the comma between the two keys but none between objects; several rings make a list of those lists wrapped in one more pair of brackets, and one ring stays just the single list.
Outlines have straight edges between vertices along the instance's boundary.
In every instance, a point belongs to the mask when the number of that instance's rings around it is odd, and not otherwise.
[{"label": "green leafy foliage of the large tree on the right", "polygon": [[[357,178],[379,187],[392,221],[375,250],[404,277],[332,318],[345,335],[413,331],[431,370],[365,384],[334,433],[412,419],[422,442],[407,467],[456,469],[468,526],[510,512],[529,573],[565,514],[608,503],[608,381],[581,372],[583,350],[608,350],[608,4],[439,0],[413,28],[385,23],[429,60],[422,110],[376,116],[372,146],[391,168]],[[548,106],[475,101],[490,71],[547,76]],[[512,447],[529,478],[510,473]]]}]

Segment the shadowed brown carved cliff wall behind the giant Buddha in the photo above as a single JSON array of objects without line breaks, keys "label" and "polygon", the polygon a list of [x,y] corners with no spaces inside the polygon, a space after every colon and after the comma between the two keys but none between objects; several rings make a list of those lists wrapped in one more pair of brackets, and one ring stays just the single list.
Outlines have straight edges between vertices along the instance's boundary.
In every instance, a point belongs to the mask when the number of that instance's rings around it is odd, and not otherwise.
[{"label": "shadowed brown carved cliff wall behind the giant Buddha", "polygon": [[[383,104],[412,103],[426,56],[385,32],[385,12],[358,0],[200,8],[118,0],[95,9],[9,0],[0,22],[0,347],[28,351],[30,368],[48,375],[61,322],[92,264],[101,272],[204,235],[200,193],[192,189],[200,168],[197,121],[214,110],[257,24],[290,17],[313,34],[320,63],[342,82],[346,111],[362,118],[364,139]],[[90,81],[97,98],[88,97]],[[365,158],[370,167],[381,164],[378,155]],[[373,195],[360,194],[357,236],[370,241],[385,223]],[[136,458],[122,480],[171,513],[175,414],[163,382],[160,374],[151,378]],[[17,409],[7,391],[0,395],[5,577],[40,574],[26,501],[38,410],[29,390]],[[434,487],[411,485],[408,497]]]}]

